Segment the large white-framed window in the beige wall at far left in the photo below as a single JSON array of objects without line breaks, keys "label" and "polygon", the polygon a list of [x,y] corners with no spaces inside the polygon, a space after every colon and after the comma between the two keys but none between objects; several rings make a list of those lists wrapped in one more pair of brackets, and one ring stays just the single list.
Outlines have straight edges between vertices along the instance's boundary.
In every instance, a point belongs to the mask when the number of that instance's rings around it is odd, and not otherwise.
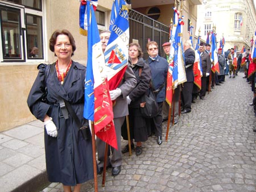
[{"label": "large white-framed window in the beige wall at far left", "polygon": [[16,4],[0,3],[0,62],[43,60],[43,13],[38,10],[42,9],[41,1],[9,2]]}]

